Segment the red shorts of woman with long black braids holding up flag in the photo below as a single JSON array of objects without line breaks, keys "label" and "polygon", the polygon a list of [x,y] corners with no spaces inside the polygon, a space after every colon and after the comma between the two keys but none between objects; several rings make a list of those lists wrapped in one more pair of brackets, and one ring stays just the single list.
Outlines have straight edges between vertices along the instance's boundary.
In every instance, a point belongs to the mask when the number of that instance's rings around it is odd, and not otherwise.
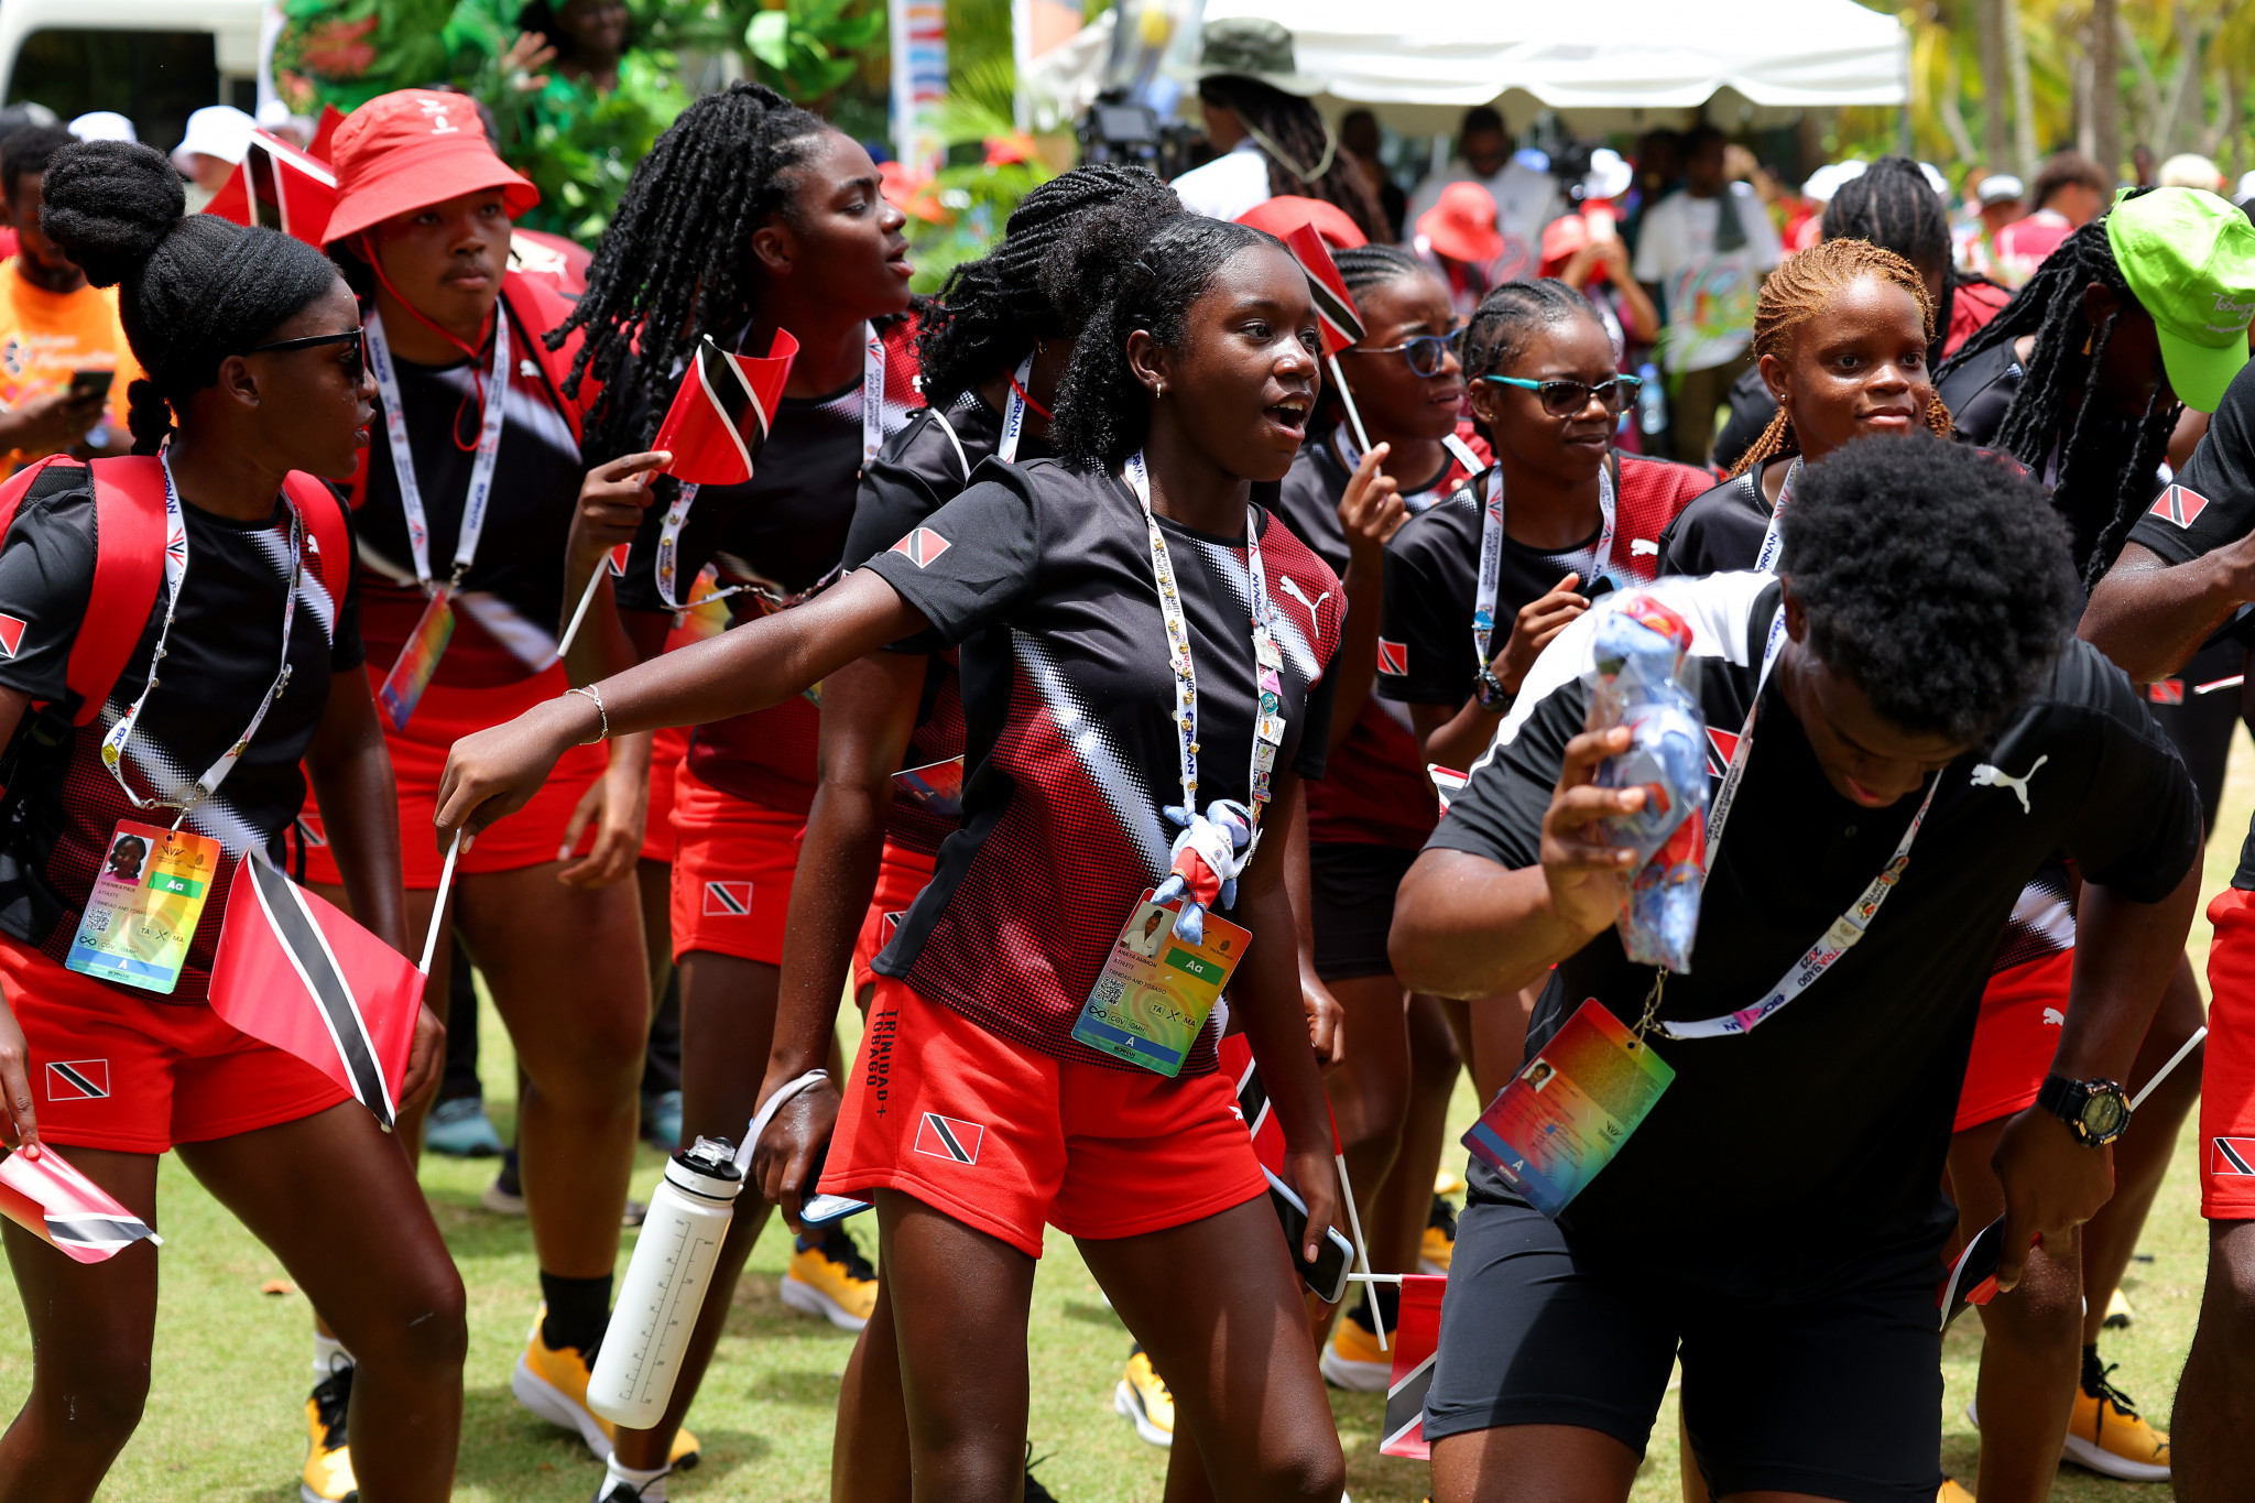
[{"label": "red shorts of woman with long black braids holding up flag", "polygon": [[722,793],[683,766],[674,834],[674,960],[710,951],[782,964],[807,816]]}]

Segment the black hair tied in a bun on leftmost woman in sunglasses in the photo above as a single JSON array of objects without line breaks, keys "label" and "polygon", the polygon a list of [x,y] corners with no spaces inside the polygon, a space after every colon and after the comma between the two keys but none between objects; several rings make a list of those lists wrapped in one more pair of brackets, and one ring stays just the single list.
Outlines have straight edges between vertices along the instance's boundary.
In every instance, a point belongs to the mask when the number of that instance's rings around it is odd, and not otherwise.
[{"label": "black hair tied in a bun on leftmost woman in sunglasses", "polygon": [[266,343],[336,286],[304,241],[187,214],[180,174],[133,142],[72,142],[47,162],[41,228],[95,286],[117,286],[144,379],[126,390],[133,453],[156,453],[219,363]]}]

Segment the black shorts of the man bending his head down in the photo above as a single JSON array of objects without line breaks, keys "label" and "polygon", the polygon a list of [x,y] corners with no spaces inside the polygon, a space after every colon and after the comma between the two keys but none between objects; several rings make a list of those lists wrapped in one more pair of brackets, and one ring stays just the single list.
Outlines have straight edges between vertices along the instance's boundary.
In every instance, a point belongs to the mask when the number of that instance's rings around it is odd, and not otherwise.
[{"label": "black shorts of the man bending his head down", "polygon": [[1684,1426],[1712,1496],[1933,1503],[1942,1269],[1917,1262],[1820,1302],[1752,1305],[1592,1266],[1556,1221],[1475,1183],[1457,1219],[1425,1438],[1574,1424],[1642,1456],[1680,1345]]}]

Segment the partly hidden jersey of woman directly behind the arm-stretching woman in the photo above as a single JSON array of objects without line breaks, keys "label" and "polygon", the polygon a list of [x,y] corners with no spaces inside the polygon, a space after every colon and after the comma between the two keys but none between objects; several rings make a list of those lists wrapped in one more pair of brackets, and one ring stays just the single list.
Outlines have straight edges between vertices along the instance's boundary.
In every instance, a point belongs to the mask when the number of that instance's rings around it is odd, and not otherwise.
[{"label": "partly hidden jersey of woman directly behind the arm-stretching woman", "polygon": [[[1001,446],[1001,412],[965,392],[943,417],[925,408],[909,426],[884,444],[884,453],[861,475],[855,498],[852,530],[846,534],[846,568],[868,563],[909,536],[927,516],[954,500],[972,471],[994,457]],[[1051,453],[1035,437],[1019,437],[1017,457],[1040,460]],[[902,651],[922,651],[934,642],[897,642]],[[916,705],[916,728],[909,732],[904,766],[929,766],[963,755],[963,687],[956,676],[956,649],[929,651],[925,694]],[[940,841],[954,834],[956,820],[931,813],[913,798],[893,798],[884,820],[884,838],[902,850],[936,856]]]}]

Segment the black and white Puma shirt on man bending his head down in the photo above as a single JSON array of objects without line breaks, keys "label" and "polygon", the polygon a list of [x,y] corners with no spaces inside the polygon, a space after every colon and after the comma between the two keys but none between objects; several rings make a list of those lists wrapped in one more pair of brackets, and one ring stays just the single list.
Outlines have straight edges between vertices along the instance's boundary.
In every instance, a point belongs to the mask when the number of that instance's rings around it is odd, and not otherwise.
[{"label": "black and white Puma shirt on man bending his head down", "polygon": [[[1714,575],[1653,593],[1694,626],[1709,737],[1736,735],[1777,581]],[[1583,730],[1597,620],[1542,653],[1434,847],[1538,863],[1563,748]],[[1975,782],[1982,764],[2011,775],[2027,807],[2011,784]],[[1560,1215],[1578,1246],[1748,1300],[1811,1298],[1874,1262],[1935,1257],[1955,1224],[1939,1183],[1973,1021],[2023,886],[2066,850],[2088,881],[2158,901],[2201,847],[2199,798],[2169,739],[2122,669],[2072,638],[2050,685],[1939,777],[1910,865],[1856,949],[1743,1037],[1657,1039],[1675,1082]],[[1709,1019],[1761,996],[1885,868],[1917,807],[1865,809],[1836,793],[1772,676],[1709,854],[1694,962],[1669,978],[1660,1016]],[[1635,1023],[1651,985],[1608,928],[1558,964],[1529,1057],[1583,998]],[[1477,1174],[1484,1192],[1502,1192]]]}]

